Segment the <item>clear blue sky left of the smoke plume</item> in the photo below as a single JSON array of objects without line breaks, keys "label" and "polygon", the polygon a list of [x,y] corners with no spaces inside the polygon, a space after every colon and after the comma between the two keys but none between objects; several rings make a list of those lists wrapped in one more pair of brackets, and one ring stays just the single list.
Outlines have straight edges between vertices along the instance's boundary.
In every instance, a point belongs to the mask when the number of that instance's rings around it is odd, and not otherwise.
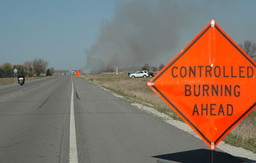
[{"label": "clear blue sky left of the smoke plume", "polygon": [[56,69],[82,67],[113,7],[114,1],[0,1],[0,64],[42,58]]}]

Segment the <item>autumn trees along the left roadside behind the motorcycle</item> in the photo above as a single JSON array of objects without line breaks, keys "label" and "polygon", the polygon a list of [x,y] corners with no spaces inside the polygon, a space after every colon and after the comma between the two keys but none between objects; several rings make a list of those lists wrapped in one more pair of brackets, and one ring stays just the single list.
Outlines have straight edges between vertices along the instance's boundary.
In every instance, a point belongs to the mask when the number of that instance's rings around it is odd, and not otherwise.
[{"label": "autumn trees along the left roadside behind the motorcycle", "polygon": [[13,70],[18,70],[18,75],[23,76],[40,76],[41,73],[46,72],[46,76],[51,76],[54,73],[54,68],[47,68],[48,62],[43,59],[28,60],[22,64],[12,65],[11,63],[4,63],[0,65],[0,78],[13,77]]}]

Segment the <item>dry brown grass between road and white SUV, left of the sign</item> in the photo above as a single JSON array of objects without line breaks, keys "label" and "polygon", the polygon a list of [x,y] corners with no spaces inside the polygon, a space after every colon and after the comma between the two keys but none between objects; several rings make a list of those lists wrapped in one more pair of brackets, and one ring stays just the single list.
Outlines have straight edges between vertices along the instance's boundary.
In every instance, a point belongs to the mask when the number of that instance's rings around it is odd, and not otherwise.
[{"label": "dry brown grass between road and white SUV, left of the sign", "polygon": [[136,100],[148,106],[154,106],[157,110],[169,114],[175,119],[179,119],[178,115],[147,86],[146,83],[151,78],[131,79],[127,73],[119,73],[118,76],[114,73],[87,74],[81,77],[124,95],[130,100]]}]

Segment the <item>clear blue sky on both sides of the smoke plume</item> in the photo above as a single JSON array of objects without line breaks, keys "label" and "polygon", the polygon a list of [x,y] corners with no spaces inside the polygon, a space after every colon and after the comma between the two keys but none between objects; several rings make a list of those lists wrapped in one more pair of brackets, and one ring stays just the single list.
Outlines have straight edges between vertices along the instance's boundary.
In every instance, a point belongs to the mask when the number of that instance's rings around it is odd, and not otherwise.
[{"label": "clear blue sky on both sides of the smoke plume", "polygon": [[[1,0],[0,65],[42,58],[56,69],[82,68],[86,64],[85,50],[97,41],[100,24],[112,20],[120,1],[132,0]],[[211,19],[238,44],[246,39],[256,42],[255,0],[176,2],[190,3],[201,12],[187,15],[191,21],[181,33],[175,53]]]}]

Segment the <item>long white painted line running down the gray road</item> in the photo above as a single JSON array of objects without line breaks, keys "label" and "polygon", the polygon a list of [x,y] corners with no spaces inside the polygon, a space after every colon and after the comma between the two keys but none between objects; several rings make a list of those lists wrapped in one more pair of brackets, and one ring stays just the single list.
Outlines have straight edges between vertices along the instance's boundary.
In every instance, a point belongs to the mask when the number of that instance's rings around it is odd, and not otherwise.
[{"label": "long white painted line running down the gray road", "polygon": [[78,148],[75,135],[75,111],[74,111],[74,84],[71,76],[72,92],[70,100],[70,128],[69,128],[69,163],[78,163]]}]

